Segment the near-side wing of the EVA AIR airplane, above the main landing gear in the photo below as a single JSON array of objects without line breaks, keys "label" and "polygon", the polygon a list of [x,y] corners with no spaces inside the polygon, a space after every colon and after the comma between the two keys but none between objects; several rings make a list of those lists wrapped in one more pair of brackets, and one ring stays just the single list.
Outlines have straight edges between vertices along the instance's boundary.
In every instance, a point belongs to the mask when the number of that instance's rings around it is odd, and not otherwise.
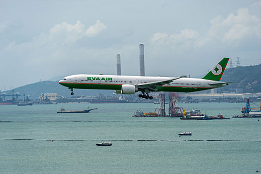
[{"label": "near-side wing of the EVA AIR airplane, above the main landing gear", "polygon": [[141,89],[145,89],[146,92],[157,91],[158,90],[157,87],[162,87],[163,85],[170,84],[174,80],[177,80],[177,79],[180,79],[180,78],[183,78],[183,77],[187,77],[187,76],[180,76],[178,78],[171,78],[171,79],[168,79],[168,80],[151,82],[151,83],[146,83],[146,84],[138,84],[138,85],[136,85],[136,87],[141,88]]}]

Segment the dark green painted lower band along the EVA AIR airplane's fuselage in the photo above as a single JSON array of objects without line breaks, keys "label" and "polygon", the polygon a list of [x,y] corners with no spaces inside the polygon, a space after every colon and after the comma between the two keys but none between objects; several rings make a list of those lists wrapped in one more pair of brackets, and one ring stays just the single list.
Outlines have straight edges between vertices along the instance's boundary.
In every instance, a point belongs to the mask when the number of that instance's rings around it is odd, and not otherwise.
[{"label": "dark green painted lower band along the EVA AIR airplane's fuselage", "polygon": [[[120,84],[79,84],[79,83],[60,83],[65,87],[76,89],[108,89],[121,90]],[[165,92],[195,92],[210,89],[210,87],[157,87],[157,91]],[[211,87],[212,88],[212,87]]]}]

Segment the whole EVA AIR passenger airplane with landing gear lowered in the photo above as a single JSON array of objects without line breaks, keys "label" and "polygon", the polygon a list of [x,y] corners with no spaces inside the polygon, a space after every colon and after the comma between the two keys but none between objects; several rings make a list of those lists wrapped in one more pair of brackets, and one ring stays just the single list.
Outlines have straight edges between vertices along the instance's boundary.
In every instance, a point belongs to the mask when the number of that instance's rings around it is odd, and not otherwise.
[{"label": "whole EVA AIR passenger airplane with landing gear lowered", "polygon": [[60,85],[71,89],[112,89],[115,93],[134,94],[141,91],[139,97],[153,99],[150,92],[194,92],[217,87],[228,86],[232,82],[220,82],[229,58],[223,58],[202,79],[180,76],[146,77],[146,76],[115,76],[115,75],[72,75],[59,81]]}]

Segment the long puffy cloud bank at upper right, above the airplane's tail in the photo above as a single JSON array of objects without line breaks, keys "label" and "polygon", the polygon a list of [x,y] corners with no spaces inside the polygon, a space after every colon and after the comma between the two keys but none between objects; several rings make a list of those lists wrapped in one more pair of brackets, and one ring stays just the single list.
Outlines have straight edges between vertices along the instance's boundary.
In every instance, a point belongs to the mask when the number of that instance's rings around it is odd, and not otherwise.
[{"label": "long puffy cloud bank at upper right, above the airplane's tail", "polygon": [[[260,4],[260,3],[259,3]],[[237,14],[221,15],[210,20],[210,28],[205,34],[199,35],[193,29],[183,29],[179,33],[155,33],[150,43],[155,46],[171,44],[172,47],[199,48],[209,44],[235,44],[248,38],[261,38],[261,19],[251,15],[248,8],[240,8]],[[242,44],[242,43],[241,43]]]}]

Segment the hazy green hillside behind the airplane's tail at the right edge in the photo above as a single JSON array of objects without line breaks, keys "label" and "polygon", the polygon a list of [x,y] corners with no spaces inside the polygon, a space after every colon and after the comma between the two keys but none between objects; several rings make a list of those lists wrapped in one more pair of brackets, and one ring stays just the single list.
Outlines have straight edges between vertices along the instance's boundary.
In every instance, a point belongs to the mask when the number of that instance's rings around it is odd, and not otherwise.
[{"label": "hazy green hillside behind the airplane's tail at the right edge", "polygon": [[[221,81],[234,82],[229,85],[229,89],[243,88],[244,93],[261,92],[261,64],[226,69]],[[226,90],[228,88],[226,87]]]}]

